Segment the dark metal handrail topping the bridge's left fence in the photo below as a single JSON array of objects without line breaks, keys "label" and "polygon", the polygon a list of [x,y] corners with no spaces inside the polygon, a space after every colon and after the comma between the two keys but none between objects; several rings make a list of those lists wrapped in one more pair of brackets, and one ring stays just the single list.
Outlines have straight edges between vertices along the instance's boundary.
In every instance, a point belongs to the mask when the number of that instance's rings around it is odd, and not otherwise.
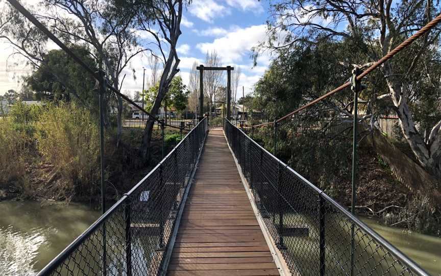
[{"label": "dark metal handrail topping the bridge's left fence", "polygon": [[69,257],[69,255],[74,252],[78,247],[81,245],[83,241],[85,241],[97,228],[99,228],[106,219],[118,208],[123,204],[128,197],[139,188],[139,186],[142,185],[142,183],[148,179],[152,174],[154,174],[162,165],[162,163],[170,158],[172,154],[176,151],[176,149],[184,143],[184,141],[187,139],[189,135],[195,129],[197,129],[201,124],[206,123],[206,118],[201,120],[193,129],[191,129],[182,139],[156,166],[153,170],[151,170],[145,177],[143,177],[133,188],[129,190],[124,196],[121,197],[115,204],[113,204],[103,215],[101,215],[98,219],[95,220],[95,222],[89,226],[80,236],[78,236],[74,241],[72,241],[60,254],[57,255],[50,263],[48,263],[42,270],[40,270],[37,274],[37,276],[47,275],[52,273],[56,268],[59,267],[59,265]]}]

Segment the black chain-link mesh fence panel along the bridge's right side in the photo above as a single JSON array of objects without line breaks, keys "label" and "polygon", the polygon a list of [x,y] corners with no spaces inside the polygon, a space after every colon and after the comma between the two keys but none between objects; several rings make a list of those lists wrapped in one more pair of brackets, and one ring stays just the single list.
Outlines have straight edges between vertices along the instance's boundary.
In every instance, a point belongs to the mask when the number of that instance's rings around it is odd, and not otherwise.
[{"label": "black chain-link mesh fence panel along the bridge's right side", "polygon": [[428,275],[227,120],[224,131],[291,273]]}]

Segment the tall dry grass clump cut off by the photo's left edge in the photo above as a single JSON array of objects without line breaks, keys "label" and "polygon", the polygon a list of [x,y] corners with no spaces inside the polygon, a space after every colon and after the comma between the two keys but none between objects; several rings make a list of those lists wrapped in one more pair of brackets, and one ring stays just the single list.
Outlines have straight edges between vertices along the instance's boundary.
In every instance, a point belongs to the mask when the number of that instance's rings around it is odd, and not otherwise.
[{"label": "tall dry grass clump cut off by the photo's left edge", "polygon": [[0,187],[25,175],[27,151],[26,132],[10,122],[0,124]]}]

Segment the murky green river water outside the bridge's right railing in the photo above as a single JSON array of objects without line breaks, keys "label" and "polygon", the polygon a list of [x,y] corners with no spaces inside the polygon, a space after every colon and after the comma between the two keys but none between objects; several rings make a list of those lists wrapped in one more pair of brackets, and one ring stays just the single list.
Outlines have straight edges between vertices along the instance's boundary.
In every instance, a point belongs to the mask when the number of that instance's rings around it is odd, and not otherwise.
[{"label": "murky green river water outside the bridge's right railing", "polygon": [[375,219],[362,218],[362,221],[431,275],[441,276],[441,238],[387,227]]}]

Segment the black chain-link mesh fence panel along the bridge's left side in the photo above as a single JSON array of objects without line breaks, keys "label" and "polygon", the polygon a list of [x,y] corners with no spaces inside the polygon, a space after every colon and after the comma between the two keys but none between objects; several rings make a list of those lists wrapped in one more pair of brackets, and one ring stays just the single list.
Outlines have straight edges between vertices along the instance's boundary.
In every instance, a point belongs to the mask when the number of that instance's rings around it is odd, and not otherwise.
[{"label": "black chain-link mesh fence panel along the bridge's left side", "polygon": [[157,275],[207,130],[204,119],[39,275]]}]

